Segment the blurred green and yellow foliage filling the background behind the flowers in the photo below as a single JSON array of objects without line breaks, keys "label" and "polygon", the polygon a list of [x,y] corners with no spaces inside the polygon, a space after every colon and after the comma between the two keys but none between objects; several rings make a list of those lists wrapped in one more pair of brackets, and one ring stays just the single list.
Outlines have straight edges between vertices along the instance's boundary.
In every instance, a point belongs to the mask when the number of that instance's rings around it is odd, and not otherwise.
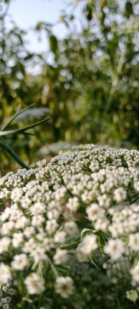
[{"label": "blurred green and yellow foliage filling the background behind the flowers", "polygon": [[[71,3],[72,4],[72,3]],[[136,0],[86,0],[82,4],[81,32],[75,31],[74,6],[62,12],[60,22],[69,36],[58,40],[53,24],[39,22],[37,36],[45,31],[53,58],[25,48],[26,33],[12,21],[6,26],[9,1],[0,0],[0,118],[9,118],[17,106],[36,102],[49,108],[51,121],[32,137],[8,138],[15,151],[30,163],[46,143],[99,142],[121,147],[139,143],[139,3]],[[71,27],[72,26],[72,27]],[[74,32],[71,30],[74,26]],[[39,65],[42,73],[27,74],[27,66]],[[32,113],[32,118],[34,113]],[[38,118],[45,112],[38,110]],[[40,115],[40,116],[39,116]],[[25,119],[14,122],[20,128]],[[27,124],[31,124],[31,116]],[[2,157],[4,160],[4,156]],[[9,157],[5,161],[9,165]]]}]

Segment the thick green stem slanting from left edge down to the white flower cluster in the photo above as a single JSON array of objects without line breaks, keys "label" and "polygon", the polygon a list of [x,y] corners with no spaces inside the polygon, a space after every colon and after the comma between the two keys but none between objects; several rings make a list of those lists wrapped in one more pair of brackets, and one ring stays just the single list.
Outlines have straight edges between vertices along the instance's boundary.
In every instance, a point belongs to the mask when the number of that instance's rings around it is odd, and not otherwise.
[{"label": "thick green stem slanting from left edge down to the white flower cluster", "polygon": [[28,165],[26,165],[20,158],[19,156],[15,153],[14,150],[12,150],[12,148],[4,141],[3,138],[1,138],[2,142],[0,142],[0,147],[4,150],[6,150],[6,152],[8,152],[9,155],[11,155],[11,157],[13,159],[15,159],[15,161],[17,163],[19,163],[19,165],[23,168],[26,168],[27,170],[30,169],[30,167]]}]

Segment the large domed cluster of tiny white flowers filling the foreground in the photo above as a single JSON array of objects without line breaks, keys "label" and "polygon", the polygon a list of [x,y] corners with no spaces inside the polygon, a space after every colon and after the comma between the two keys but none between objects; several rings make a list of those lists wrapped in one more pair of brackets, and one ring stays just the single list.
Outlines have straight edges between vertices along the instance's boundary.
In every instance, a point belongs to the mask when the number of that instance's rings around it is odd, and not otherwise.
[{"label": "large domed cluster of tiny white flowers filling the foreground", "polygon": [[[72,297],[73,256],[78,263],[92,261],[98,272],[125,258],[137,288],[138,165],[137,150],[90,144],[0,179],[0,198],[11,200],[0,215],[2,308],[15,308],[13,297],[17,308],[26,308],[25,303],[46,308],[53,289],[62,298]],[[101,264],[95,259],[98,251]],[[51,272],[54,286],[49,284]]]}]

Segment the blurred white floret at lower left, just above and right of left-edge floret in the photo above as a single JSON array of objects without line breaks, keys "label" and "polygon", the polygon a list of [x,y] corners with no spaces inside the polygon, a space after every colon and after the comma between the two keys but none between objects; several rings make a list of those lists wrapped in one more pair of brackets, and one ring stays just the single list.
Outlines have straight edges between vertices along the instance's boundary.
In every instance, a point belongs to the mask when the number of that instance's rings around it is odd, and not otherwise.
[{"label": "blurred white floret at lower left, just above and right of left-edge floret", "polygon": [[11,262],[11,266],[14,269],[23,270],[29,264],[27,260],[27,255],[25,253],[16,254],[14,256],[13,261]]}]

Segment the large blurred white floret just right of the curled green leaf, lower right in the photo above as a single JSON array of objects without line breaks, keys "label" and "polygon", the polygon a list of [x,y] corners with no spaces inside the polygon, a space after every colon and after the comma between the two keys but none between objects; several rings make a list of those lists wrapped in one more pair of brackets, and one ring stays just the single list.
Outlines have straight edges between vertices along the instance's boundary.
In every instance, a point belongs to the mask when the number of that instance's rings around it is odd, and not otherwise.
[{"label": "large blurred white floret just right of the curled green leaf, lower right", "polygon": [[104,246],[104,253],[109,254],[112,260],[117,260],[124,253],[124,244],[121,239],[110,239]]}]

